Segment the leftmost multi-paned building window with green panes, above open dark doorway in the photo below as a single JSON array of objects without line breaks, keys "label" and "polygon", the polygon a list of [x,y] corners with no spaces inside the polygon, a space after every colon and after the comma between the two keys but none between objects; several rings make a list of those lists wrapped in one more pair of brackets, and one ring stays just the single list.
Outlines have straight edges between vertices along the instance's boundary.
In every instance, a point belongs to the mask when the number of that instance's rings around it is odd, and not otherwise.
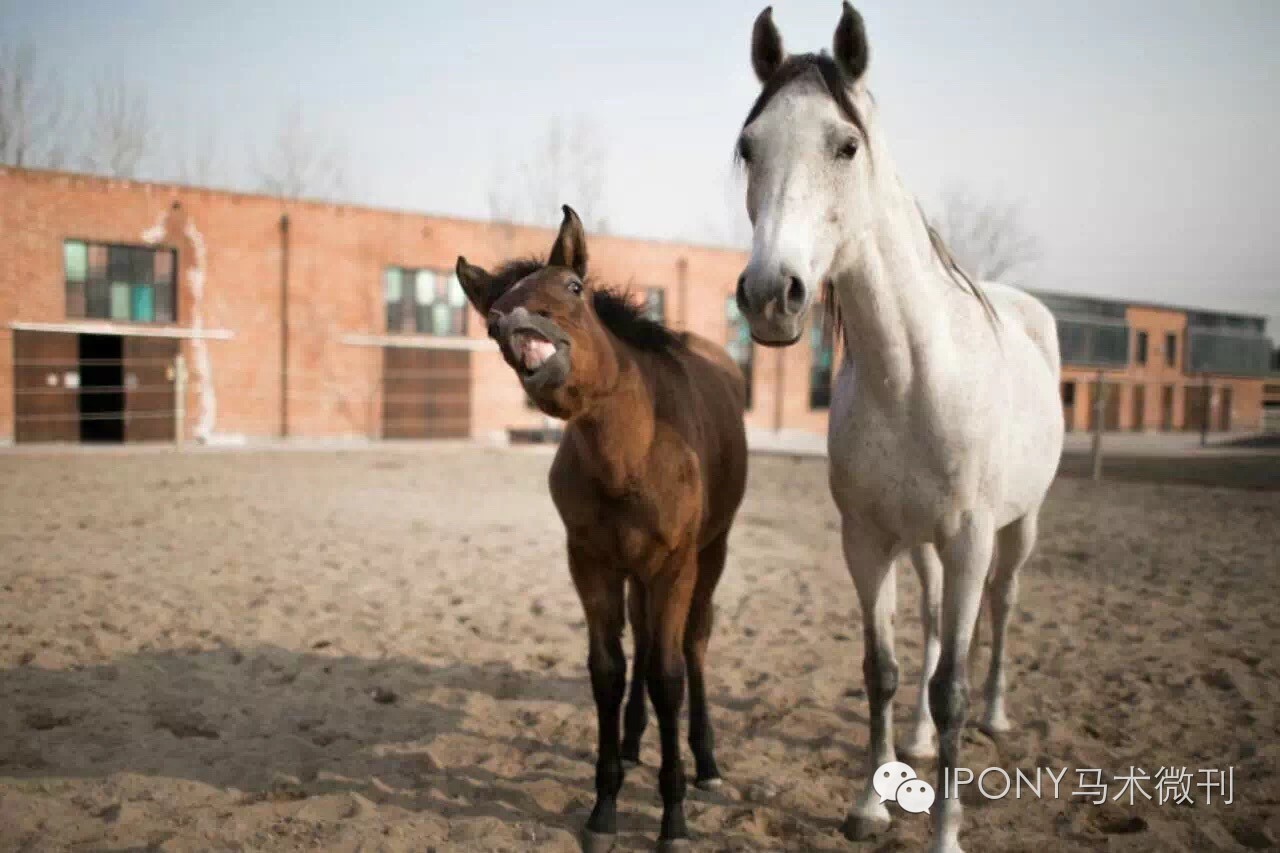
[{"label": "leftmost multi-paned building window with green panes, above open dark doorway", "polygon": [[63,242],[67,316],[174,323],[177,252],[150,246]]}]

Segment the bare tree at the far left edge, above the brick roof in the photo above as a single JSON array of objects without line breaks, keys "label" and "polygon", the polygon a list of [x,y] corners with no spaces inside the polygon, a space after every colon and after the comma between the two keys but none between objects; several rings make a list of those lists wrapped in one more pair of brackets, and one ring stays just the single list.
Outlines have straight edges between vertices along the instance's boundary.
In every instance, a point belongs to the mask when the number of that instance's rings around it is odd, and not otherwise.
[{"label": "bare tree at the far left edge, above the brick roof", "polygon": [[0,164],[58,169],[67,161],[61,87],[29,44],[0,47]]}]

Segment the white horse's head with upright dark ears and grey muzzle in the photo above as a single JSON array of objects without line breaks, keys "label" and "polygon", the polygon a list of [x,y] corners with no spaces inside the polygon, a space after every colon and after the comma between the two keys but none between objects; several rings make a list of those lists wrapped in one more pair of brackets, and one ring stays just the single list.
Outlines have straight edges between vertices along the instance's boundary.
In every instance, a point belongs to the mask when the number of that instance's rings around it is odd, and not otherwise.
[{"label": "white horse's head with upright dark ears and grey muzzle", "polygon": [[763,90],[737,142],[753,225],[737,302],[759,343],[800,339],[845,243],[870,222],[868,53],[861,15],[849,3],[829,56],[788,56],[772,8],[755,19],[751,67]]}]

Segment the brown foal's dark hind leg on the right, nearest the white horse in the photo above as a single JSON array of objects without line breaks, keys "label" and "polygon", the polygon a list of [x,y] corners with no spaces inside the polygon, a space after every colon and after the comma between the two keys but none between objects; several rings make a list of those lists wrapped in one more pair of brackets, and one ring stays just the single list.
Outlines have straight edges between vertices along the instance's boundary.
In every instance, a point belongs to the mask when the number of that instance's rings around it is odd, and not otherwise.
[{"label": "brown foal's dark hind leg on the right, nearest the white horse", "polygon": [[710,715],[707,712],[707,644],[712,637],[712,594],[724,571],[728,535],[710,542],[698,555],[698,585],[689,608],[689,626],[685,629],[685,663],[689,667],[689,751],[694,753],[699,788],[716,788],[721,783],[716,765],[716,738],[712,734]]}]

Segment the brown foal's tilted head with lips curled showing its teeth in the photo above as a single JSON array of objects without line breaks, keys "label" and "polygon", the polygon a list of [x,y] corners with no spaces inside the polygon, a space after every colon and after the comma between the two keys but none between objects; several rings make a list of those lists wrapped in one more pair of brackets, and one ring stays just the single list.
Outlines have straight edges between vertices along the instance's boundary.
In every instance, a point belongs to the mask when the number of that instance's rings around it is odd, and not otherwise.
[{"label": "brown foal's tilted head with lips curled showing its teeth", "polygon": [[612,386],[617,357],[585,280],[582,222],[563,210],[545,264],[512,261],[490,274],[458,257],[457,273],[525,392],[547,414],[572,418]]}]

